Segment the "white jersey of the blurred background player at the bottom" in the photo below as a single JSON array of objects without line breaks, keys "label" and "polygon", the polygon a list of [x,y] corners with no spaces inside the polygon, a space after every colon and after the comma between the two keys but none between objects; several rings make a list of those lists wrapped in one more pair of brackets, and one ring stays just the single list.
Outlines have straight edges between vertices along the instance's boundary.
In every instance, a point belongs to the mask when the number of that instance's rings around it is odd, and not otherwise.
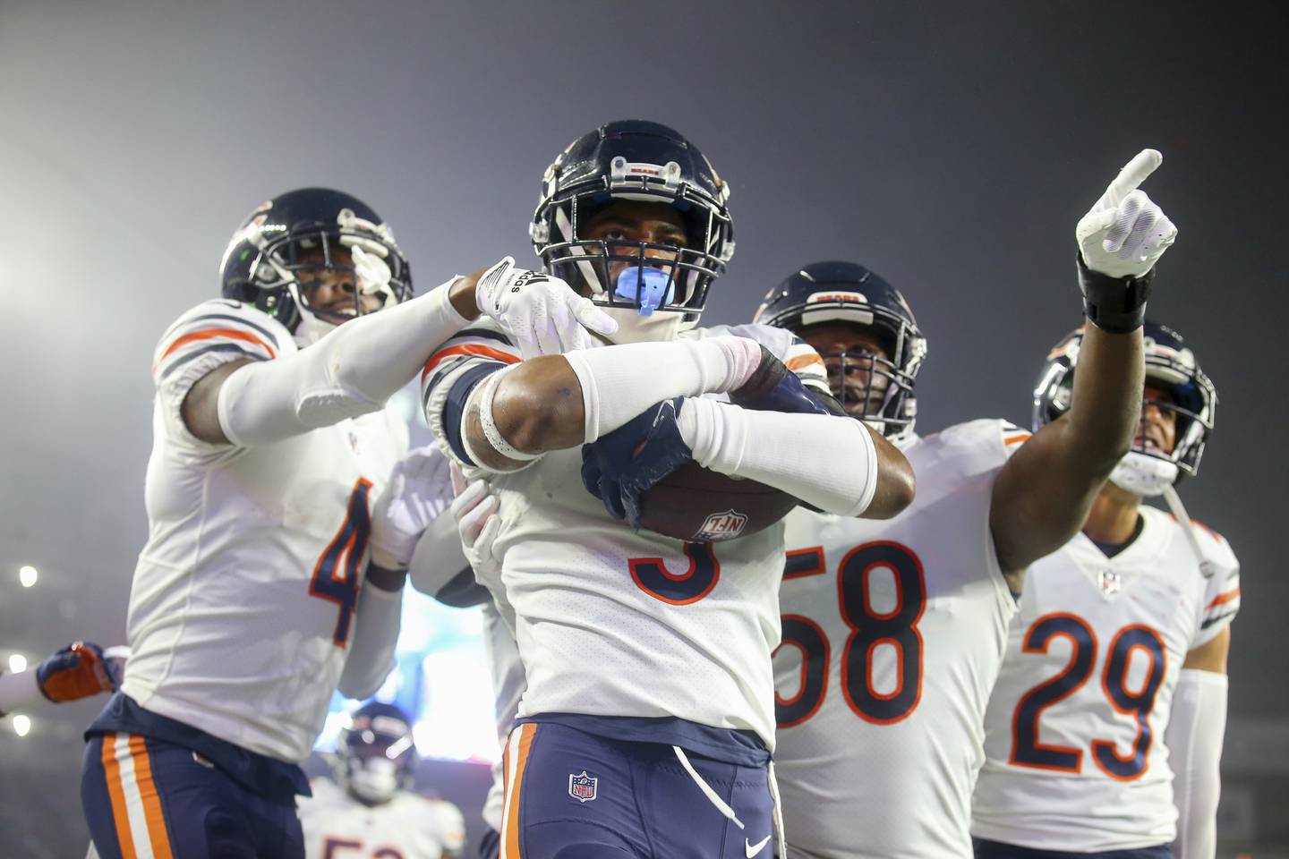
[{"label": "white jersey of the blurred background player at the bottom", "polygon": [[398,791],[382,805],[363,805],[327,778],[298,797],[307,859],[441,859],[465,847],[465,819],[445,800]]}]

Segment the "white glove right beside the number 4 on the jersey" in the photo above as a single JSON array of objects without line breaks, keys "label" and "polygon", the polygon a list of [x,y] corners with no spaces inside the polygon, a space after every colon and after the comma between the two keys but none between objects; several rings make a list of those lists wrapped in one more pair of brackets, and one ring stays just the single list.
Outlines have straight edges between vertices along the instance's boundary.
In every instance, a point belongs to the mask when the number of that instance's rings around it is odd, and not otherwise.
[{"label": "white glove right beside the number 4 on the jersey", "polygon": [[451,498],[447,457],[433,444],[409,451],[371,510],[371,563],[407,569],[420,536]]}]

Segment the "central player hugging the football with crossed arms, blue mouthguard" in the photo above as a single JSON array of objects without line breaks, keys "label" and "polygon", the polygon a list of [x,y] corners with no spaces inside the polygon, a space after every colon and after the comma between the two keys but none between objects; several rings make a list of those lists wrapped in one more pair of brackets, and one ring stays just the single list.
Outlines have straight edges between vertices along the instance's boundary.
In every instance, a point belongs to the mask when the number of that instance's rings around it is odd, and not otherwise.
[{"label": "central player hugging the football with crossed arms, blue mouthguard", "polygon": [[717,543],[639,531],[651,486],[692,458],[843,516],[913,496],[898,451],[820,404],[811,349],[759,326],[692,328],[733,251],[727,198],[672,129],[577,138],[532,222],[547,273],[504,260],[478,296],[501,313],[568,282],[617,322],[612,345],[553,354],[563,344],[485,325],[425,366],[431,428],[499,498],[489,585],[513,607],[527,677],[501,856],[770,853],[782,524]]}]

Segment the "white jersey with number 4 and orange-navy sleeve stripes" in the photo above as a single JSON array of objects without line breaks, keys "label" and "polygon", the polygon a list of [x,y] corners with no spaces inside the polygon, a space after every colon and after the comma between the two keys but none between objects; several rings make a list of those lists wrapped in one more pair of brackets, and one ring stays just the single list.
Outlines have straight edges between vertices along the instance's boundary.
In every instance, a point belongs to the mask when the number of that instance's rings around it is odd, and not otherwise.
[{"label": "white jersey with number 4 and orange-navy sleeve stripes", "polygon": [[224,362],[295,352],[286,328],[237,301],[199,304],[161,337],[121,685],[146,710],[293,762],[344,666],[370,507],[407,428],[375,412],[238,448],[199,440],[179,407]]}]

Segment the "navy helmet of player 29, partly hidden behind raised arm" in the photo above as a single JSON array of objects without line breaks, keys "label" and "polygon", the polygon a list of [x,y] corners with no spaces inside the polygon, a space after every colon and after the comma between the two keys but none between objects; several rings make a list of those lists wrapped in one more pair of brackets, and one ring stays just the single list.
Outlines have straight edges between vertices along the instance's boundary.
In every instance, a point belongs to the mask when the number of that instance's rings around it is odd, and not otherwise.
[{"label": "navy helmet of player 29, partly hidden behind raised arm", "polygon": [[[1146,384],[1172,392],[1173,402],[1142,401],[1141,431],[1132,451],[1110,475],[1115,486],[1141,496],[1156,496],[1199,470],[1204,446],[1213,431],[1217,388],[1200,370],[1195,353],[1172,328],[1146,319],[1142,330],[1146,352]],[[1074,373],[1083,345],[1083,327],[1067,335],[1048,353],[1043,375],[1034,388],[1034,429],[1052,422],[1070,408]],[[1172,451],[1147,439],[1145,407],[1155,406],[1176,416]]]}]

